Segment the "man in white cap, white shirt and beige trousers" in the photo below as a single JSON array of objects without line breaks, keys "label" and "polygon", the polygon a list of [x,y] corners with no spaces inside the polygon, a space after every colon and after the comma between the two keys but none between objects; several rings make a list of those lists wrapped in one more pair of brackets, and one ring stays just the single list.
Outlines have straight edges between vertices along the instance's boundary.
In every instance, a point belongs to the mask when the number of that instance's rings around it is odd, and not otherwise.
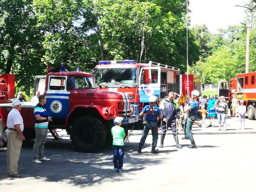
[{"label": "man in white cap, white shirt and beige trousers", "polygon": [[20,115],[21,102],[12,101],[12,110],[7,117],[7,170],[11,177],[20,177],[18,173],[18,162],[20,149],[25,137],[22,133],[24,129],[23,119]]}]

